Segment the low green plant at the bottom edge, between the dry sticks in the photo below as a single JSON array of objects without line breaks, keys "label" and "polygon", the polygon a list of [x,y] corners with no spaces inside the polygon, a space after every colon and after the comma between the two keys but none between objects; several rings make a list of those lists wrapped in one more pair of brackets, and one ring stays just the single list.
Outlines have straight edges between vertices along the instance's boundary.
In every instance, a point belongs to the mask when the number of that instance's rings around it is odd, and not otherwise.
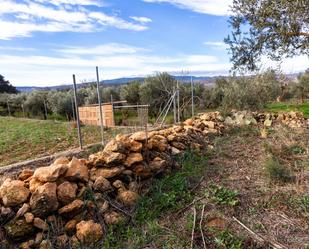
[{"label": "low green plant at the bottom edge, between the dry sticks", "polygon": [[219,232],[215,236],[215,244],[217,248],[222,249],[242,249],[244,243],[241,238],[234,236],[228,230]]}]

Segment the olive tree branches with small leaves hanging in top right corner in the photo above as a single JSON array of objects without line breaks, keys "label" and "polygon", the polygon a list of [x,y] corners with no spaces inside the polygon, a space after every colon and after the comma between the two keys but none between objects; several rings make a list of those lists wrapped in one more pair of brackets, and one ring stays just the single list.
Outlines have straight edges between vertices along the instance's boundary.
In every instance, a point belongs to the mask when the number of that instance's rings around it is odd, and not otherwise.
[{"label": "olive tree branches with small leaves hanging in top right corner", "polygon": [[230,46],[234,70],[256,70],[262,55],[275,60],[309,54],[308,0],[233,0]]}]

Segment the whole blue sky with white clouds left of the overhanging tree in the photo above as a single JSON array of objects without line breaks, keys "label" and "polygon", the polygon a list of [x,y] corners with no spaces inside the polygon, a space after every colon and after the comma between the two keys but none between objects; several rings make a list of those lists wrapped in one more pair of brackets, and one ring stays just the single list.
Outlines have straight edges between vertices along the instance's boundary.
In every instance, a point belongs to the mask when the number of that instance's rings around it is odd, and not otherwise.
[{"label": "whole blue sky with white clouds left of the overhanging tree", "polygon": [[[16,86],[172,74],[226,75],[232,0],[0,0],[0,74]],[[285,60],[299,72],[307,56]],[[276,63],[263,59],[263,68]]]}]

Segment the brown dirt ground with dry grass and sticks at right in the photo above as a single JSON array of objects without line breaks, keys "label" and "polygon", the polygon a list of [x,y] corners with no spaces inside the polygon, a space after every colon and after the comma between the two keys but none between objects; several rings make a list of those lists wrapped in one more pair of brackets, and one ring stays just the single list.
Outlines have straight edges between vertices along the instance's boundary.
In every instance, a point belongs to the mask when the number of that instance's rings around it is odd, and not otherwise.
[{"label": "brown dirt ground with dry grass and sticks at right", "polygon": [[[309,248],[308,128],[276,126],[261,138],[258,127],[235,127],[210,138],[208,168],[195,190],[196,201],[160,224],[183,241],[192,241],[193,248]],[[288,169],[289,180],[268,175],[270,155]],[[211,192],[214,185],[227,191]],[[205,195],[209,191],[216,198]],[[236,196],[230,194],[233,191]],[[194,216],[192,237],[188,219],[192,227]]]}]

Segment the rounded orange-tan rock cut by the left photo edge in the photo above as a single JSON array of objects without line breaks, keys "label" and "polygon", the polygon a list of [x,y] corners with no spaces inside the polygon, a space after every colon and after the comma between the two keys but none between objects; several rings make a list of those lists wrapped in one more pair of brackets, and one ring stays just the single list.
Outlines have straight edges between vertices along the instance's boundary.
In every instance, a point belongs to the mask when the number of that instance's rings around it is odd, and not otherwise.
[{"label": "rounded orange-tan rock cut by the left photo edge", "polygon": [[24,182],[7,179],[0,187],[0,198],[5,206],[17,206],[24,203],[30,194],[29,189],[24,186]]}]

